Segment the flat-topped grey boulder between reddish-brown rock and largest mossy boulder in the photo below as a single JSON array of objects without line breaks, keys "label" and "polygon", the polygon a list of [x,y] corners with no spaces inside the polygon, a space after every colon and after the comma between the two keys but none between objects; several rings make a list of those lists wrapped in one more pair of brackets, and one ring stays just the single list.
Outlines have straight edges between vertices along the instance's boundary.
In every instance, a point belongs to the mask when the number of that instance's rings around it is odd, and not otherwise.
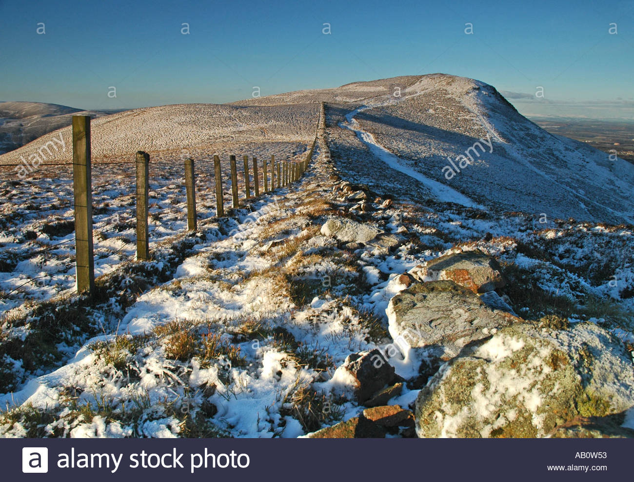
[{"label": "flat-topped grey boulder between reddish-brown rock and largest mossy boulder", "polygon": [[438,345],[448,356],[495,329],[522,321],[449,280],[413,283],[392,297],[387,316],[392,339],[404,339],[412,348]]}]

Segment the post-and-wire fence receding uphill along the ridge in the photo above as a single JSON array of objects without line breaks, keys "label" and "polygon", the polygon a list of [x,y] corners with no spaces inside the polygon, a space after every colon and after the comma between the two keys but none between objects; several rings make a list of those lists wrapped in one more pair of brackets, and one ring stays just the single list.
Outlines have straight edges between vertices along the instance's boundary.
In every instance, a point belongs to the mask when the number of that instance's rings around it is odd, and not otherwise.
[{"label": "post-and-wire fence receding uphill along the ridge", "polygon": [[[314,148],[316,145],[318,132],[320,128],[320,122],[322,122],[321,120],[322,118],[323,118],[323,103],[320,108],[320,117],[318,118],[318,122],[316,123],[314,138],[311,144],[307,146],[307,150],[302,155],[294,156],[291,159],[285,159],[285,160],[276,160],[275,155],[273,155],[271,156],[270,162],[268,159],[266,159],[266,160],[263,160],[261,164],[258,164],[257,157],[250,156],[250,159],[249,159],[248,156],[244,156],[243,164],[242,162],[240,162],[240,167],[242,167],[243,165],[243,169],[238,169],[238,165],[236,164],[236,157],[232,155],[230,156],[230,172],[226,173],[225,171],[225,174],[229,174],[229,176],[227,176],[228,179],[226,179],[226,181],[224,182],[223,182],[223,172],[222,172],[223,169],[217,169],[217,166],[219,166],[219,164],[216,165],[216,169],[214,170],[213,173],[204,172],[203,173],[204,177],[205,178],[213,177],[214,184],[216,185],[216,191],[215,191],[216,192],[216,196],[215,196],[216,197],[216,216],[218,217],[224,216],[224,204],[226,204],[225,198],[230,199],[231,207],[233,209],[240,207],[240,200],[238,199],[238,192],[240,191],[243,192],[242,203],[244,205],[245,202],[249,202],[250,200],[254,199],[257,195],[273,192],[277,190],[278,188],[285,188],[291,183],[295,183],[295,181],[299,181],[299,179],[302,178],[304,172],[308,168],[311,162],[311,159],[313,157]],[[87,122],[89,122],[89,119],[87,120]],[[89,149],[89,145],[88,145],[88,149]],[[89,150],[87,152],[89,152]],[[139,157],[139,154],[142,154],[142,156]],[[94,168],[98,168],[100,166],[112,166],[114,164],[117,164],[118,166],[125,166],[125,167],[136,166],[136,173],[137,173],[136,192],[119,193],[112,197],[104,193],[110,190],[116,190],[118,189],[117,187],[110,188],[108,186],[108,188],[104,188],[104,186],[100,186],[101,193],[96,193],[96,196],[103,197],[102,199],[103,202],[98,207],[94,207],[94,203],[93,203],[93,210],[101,211],[101,209],[111,209],[111,208],[113,210],[116,210],[116,209],[122,208],[123,206],[112,205],[113,203],[130,202],[132,199],[136,197],[136,231],[137,231],[136,259],[138,259],[139,261],[143,261],[143,259],[149,259],[148,253],[146,253],[147,256],[143,256],[143,251],[139,251],[141,249],[139,246],[142,244],[141,242],[139,242],[139,240],[143,240],[142,238],[143,236],[145,236],[146,244],[148,244],[149,242],[148,237],[149,237],[150,230],[148,230],[148,209],[147,209],[148,199],[160,198],[161,195],[163,195],[164,193],[174,193],[174,194],[182,195],[183,191],[185,191],[186,197],[187,197],[186,204],[187,204],[187,211],[188,211],[187,214],[188,214],[188,229],[189,230],[192,229],[192,226],[193,226],[193,230],[196,229],[196,220],[198,219],[198,215],[196,212],[197,199],[195,194],[196,186],[195,186],[195,175],[194,175],[195,173],[194,173],[194,167],[193,167],[194,161],[192,159],[190,158],[186,159],[182,165],[174,164],[173,162],[168,162],[164,160],[152,162],[150,164],[151,166],[167,166],[171,168],[171,171],[174,171],[176,169],[178,170],[182,169],[183,176],[184,176],[182,182],[175,182],[174,180],[171,180],[169,181],[167,185],[162,185],[162,184],[157,185],[156,183],[152,183],[153,184],[152,187],[150,186],[149,176],[144,176],[143,169],[139,169],[139,159],[141,159],[141,161],[145,159],[145,162],[149,162],[149,155],[147,155],[146,153],[138,152],[136,160],[130,160],[125,162],[119,162],[119,161],[95,162],[94,164],[92,164],[92,167]],[[247,160],[249,160],[249,162],[247,162]],[[108,252],[107,256],[97,257],[95,259],[92,252],[93,243],[92,242],[87,243],[84,240],[82,241],[84,243],[84,246],[89,246],[89,249],[91,250],[90,256],[89,257],[86,256],[87,253],[82,251],[82,249],[84,248],[82,247],[82,244],[79,242],[79,240],[81,240],[82,238],[77,236],[77,232],[79,232],[77,231],[77,229],[81,228],[82,221],[84,221],[84,225],[89,226],[88,232],[90,233],[90,235],[92,235],[93,220],[92,218],[82,220],[81,213],[82,212],[87,213],[87,214],[84,214],[84,216],[91,216],[91,214],[94,214],[94,213],[91,213],[91,211],[87,210],[85,207],[83,210],[80,209],[78,211],[78,206],[81,207],[81,205],[77,204],[77,195],[79,191],[80,199],[92,199],[95,193],[91,192],[88,197],[84,197],[84,198],[81,197],[82,194],[86,196],[86,192],[84,193],[81,192],[81,188],[82,188],[81,182],[79,185],[77,185],[77,173],[82,172],[81,171],[82,167],[84,167],[84,169],[86,166],[91,167],[91,163],[89,162],[88,156],[84,155],[84,161],[83,161],[84,164],[81,164],[81,162],[82,162],[81,153],[79,153],[79,163],[55,162],[55,163],[41,165],[42,167],[67,166],[67,167],[74,168],[74,177],[73,177],[73,183],[74,183],[73,192],[75,195],[74,204],[56,205],[55,207],[50,207],[49,209],[39,209],[36,207],[35,209],[31,209],[30,211],[27,211],[27,212],[14,211],[8,214],[0,215],[0,222],[4,223],[7,220],[11,220],[17,223],[17,222],[22,222],[24,218],[27,218],[29,216],[35,216],[35,215],[41,216],[42,214],[46,214],[49,212],[68,212],[71,209],[74,210],[74,221],[75,221],[74,228],[76,231],[75,236],[72,238],[62,240],[60,242],[56,242],[55,244],[42,247],[41,249],[37,249],[36,251],[30,251],[29,257],[39,256],[40,254],[43,254],[46,252],[55,251],[56,249],[59,249],[59,247],[62,245],[67,245],[69,243],[75,242],[75,260],[80,258],[92,260],[92,265],[87,267],[89,273],[91,273],[90,283],[87,285],[86,284],[82,285],[82,282],[80,279],[81,276],[79,272],[80,266],[79,264],[77,264],[76,276],[77,276],[77,287],[79,292],[86,290],[86,288],[88,291],[90,291],[91,289],[94,289],[93,288],[94,261],[100,261],[101,259],[112,257],[113,255],[118,254],[120,251],[125,249],[126,246],[129,247],[129,244],[123,244],[121,247],[119,247],[119,249],[112,252]],[[188,162],[190,164],[188,164]],[[214,156],[214,164],[216,163],[219,163],[218,156]],[[18,166],[24,166],[24,164],[0,164],[0,167],[18,167]],[[80,171],[77,171],[78,166],[80,168]],[[143,164],[141,164],[141,166],[143,166]],[[145,167],[146,167],[146,172],[148,172],[147,171],[148,166],[145,166]],[[207,164],[207,167],[212,167],[212,166],[209,163]],[[190,176],[188,176],[188,169],[191,169]],[[90,173],[91,169],[87,169],[87,172]],[[239,189],[240,186],[238,186],[239,184],[238,179],[242,181],[242,189]],[[86,186],[91,186],[90,179],[88,179],[88,181],[89,182],[86,183]],[[225,186],[227,187],[226,193],[224,192]],[[211,194],[212,195],[214,194],[214,190],[212,190]],[[206,204],[204,202],[204,205],[209,207],[208,202]],[[107,214],[107,213],[100,212],[100,214]],[[100,216],[100,214],[94,214],[94,215]],[[213,217],[213,215],[210,217]],[[193,224],[191,222],[192,219],[193,219]],[[201,218],[201,219],[205,219],[205,218]],[[134,221],[134,218],[130,218],[130,219],[127,219],[126,223],[133,225],[134,224],[133,221]],[[126,255],[129,257],[134,256],[133,254],[126,254]],[[76,261],[76,263],[79,263],[79,262]],[[2,300],[7,299],[8,297],[10,297],[11,294],[20,290],[20,288],[22,288],[23,286],[29,283],[37,282],[37,280],[40,280],[42,278],[53,277],[57,274],[62,273],[63,271],[68,272],[71,268],[72,266],[67,264],[67,266],[65,266],[63,269],[55,271],[53,273],[46,273],[39,277],[33,277],[33,278],[29,277],[27,280],[25,280],[24,283],[13,288],[10,292],[3,293],[2,296],[0,296],[0,299]],[[81,266],[81,268],[86,268],[86,267]]]}]

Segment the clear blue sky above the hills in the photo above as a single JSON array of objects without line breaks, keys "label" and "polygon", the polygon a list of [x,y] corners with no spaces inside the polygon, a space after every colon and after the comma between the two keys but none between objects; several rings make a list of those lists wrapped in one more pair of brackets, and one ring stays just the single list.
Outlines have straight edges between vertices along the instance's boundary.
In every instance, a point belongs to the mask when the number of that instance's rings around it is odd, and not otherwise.
[{"label": "clear blue sky above the hills", "polygon": [[444,72],[492,84],[526,115],[634,115],[633,1],[0,0],[0,23],[3,101],[222,103],[254,86]]}]

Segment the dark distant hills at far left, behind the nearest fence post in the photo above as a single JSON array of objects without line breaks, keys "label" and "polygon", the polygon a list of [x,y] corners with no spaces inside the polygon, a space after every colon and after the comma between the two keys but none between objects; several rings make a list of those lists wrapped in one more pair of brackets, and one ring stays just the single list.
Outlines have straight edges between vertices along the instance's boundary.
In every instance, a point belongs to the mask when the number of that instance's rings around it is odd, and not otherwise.
[{"label": "dark distant hills at far left, behind the nearest fence post", "polygon": [[82,110],[41,102],[0,102],[0,154],[22,147],[60,127],[70,126],[74,114],[101,117],[113,112],[121,110]]}]

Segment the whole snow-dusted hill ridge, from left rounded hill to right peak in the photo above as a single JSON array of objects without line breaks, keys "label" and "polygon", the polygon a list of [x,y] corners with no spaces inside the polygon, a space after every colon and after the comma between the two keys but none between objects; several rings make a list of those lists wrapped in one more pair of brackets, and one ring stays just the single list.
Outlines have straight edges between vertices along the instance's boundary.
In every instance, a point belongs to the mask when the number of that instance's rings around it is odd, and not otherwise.
[{"label": "whole snow-dusted hill ridge, from left rounded hill to right peak", "polygon": [[[200,152],[188,155],[198,159],[213,153],[293,155],[313,137],[320,102],[325,103],[325,133],[340,175],[376,192],[548,219],[634,224],[632,164],[588,142],[548,133],[489,84],[447,74],[354,82],[223,105],[127,110],[93,122],[93,159],[130,160],[134,152],[145,150],[152,159],[170,152],[165,159],[180,162],[178,153],[193,148]],[[42,129],[52,131],[61,127],[52,124],[54,119],[67,125],[70,115],[81,112],[0,103],[0,113],[8,104],[11,112],[23,112],[18,123],[24,124],[19,130],[25,137],[16,144],[41,135],[43,131],[32,129],[40,122],[46,125]],[[34,108],[37,114],[31,114],[29,105],[39,106]],[[32,124],[26,119],[33,119]],[[51,124],[47,119],[53,119]],[[30,159],[43,143],[55,142],[54,137],[70,145],[70,127],[2,155],[0,163]],[[66,149],[43,160],[70,159],[72,152]]]}]

